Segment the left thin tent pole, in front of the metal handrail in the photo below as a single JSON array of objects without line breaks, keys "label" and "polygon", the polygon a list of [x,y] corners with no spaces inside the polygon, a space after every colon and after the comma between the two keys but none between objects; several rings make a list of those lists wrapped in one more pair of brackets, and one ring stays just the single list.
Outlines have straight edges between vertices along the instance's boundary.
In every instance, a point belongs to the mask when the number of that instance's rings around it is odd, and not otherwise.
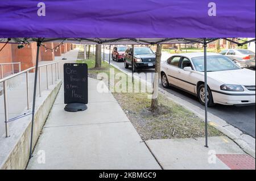
[{"label": "left thin tent pole, in front of the metal handrail", "polygon": [[38,39],[37,50],[36,50],[36,67],[35,67],[35,81],[34,81],[34,95],[33,95],[33,106],[32,106],[32,121],[31,121],[31,137],[30,137],[30,158],[32,157],[32,145],[33,145],[33,131],[34,131],[34,119],[35,119],[35,99],[36,99],[36,83],[38,81],[38,58],[41,40]]}]

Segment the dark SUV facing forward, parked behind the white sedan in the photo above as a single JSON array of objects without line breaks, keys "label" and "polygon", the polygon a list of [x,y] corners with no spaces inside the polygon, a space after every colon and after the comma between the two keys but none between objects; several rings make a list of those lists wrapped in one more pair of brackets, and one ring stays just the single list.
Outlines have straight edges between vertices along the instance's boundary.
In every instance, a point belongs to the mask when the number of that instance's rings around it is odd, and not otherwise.
[{"label": "dark SUV facing forward, parked behind the white sedan", "polygon": [[[132,66],[133,49],[128,48],[125,52],[125,68]],[[147,47],[134,48],[134,70],[155,68],[155,53]]]}]

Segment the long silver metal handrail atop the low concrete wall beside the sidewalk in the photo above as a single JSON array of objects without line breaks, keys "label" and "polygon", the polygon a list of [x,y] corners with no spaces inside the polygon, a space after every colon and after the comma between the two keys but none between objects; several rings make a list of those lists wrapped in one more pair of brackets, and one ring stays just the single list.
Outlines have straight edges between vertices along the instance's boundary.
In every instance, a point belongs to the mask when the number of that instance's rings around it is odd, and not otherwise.
[{"label": "long silver metal handrail atop the low concrete wall beside the sidewalk", "polygon": [[[39,74],[39,96],[42,96],[42,82],[41,82],[41,68],[42,67],[46,67],[46,79],[47,79],[47,90],[49,89],[49,81],[48,81],[48,66],[51,66],[51,74],[52,74],[52,85],[53,85],[53,65],[55,65],[55,81],[57,81],[57,79],[60,79],[60,64],[59,62],[53,62],[53,63],[50,63],[50,64],[44,64],[44,65],[40,65],[38,66],[39,68],[39,71],[38,71],[38,74]],[[27,109],[29,110],[30,109],[30,92],[29,92],[29,72],[31,70],[35,69],[35,66],[34,67],[31,67],[29,69],[26,69],[26,70],[23,70],[23,71],[20,71],[19,73],[16,73],[16,74],[13,74],[13,75],[10,75],[6,78],[3,78],[3,79],[0,79],[0,83],[3,83],[3,98],[4,98],[4,106],[5,106],[5,131],[6,131],[6,137],[10,137],[10,133],[9,133],[9,111],[8,111],[8,100],[7,100],[7,81],[14,78],[14,77],[17,77],[21,74],[25,74],[26,73],[26,89],[27,89]]]}]

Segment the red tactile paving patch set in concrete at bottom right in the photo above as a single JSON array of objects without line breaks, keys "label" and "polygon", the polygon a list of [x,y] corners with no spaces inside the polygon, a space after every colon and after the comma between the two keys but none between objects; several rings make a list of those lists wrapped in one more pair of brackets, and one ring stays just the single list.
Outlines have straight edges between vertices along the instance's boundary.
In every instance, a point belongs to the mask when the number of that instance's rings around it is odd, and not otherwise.
[{"label": "red tactile paving patch set in concrete at bottom right", "polygon": [[247,154],[217,154],[217,158],[232,170],[255,170],[255,159]]}]

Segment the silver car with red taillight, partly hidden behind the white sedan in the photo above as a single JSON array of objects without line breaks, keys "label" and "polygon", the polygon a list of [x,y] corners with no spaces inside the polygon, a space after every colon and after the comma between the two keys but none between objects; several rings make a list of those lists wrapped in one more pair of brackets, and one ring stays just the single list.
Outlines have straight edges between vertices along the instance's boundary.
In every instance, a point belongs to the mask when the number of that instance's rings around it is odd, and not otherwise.
[{"label": "silver car with red taillight, partly hidden behind the white sedan", "polygon": [[247,49],[226,49],[220,52],[242,68],[255,68],[255,53]]}]

